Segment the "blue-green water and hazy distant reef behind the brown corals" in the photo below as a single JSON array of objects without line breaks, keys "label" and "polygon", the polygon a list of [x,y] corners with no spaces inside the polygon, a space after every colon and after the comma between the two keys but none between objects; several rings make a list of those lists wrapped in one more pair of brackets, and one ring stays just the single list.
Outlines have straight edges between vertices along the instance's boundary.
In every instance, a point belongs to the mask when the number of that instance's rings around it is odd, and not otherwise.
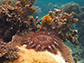
[{"label": "blue-green water and hazy distant reef behind the brown corals", "polygon": [[[78,41],[79,45],[74,46],[73,44],[69,45],[70,42],[66,43],[72,50],[72,55],[74,58],[77,58],[78,63],[83,63],[84,61],[84,0],[37,0],[37,6],[41,8],[41,12],[39,13],[39,17],[42,18],[45,14],[54,8],[56,9],[64,9],[67,13],[74,11],[76,14],[74,17],[77,17],[79,21],[76,24],[72,24],[72,29],[76,29],[78,31]],[[48,5],[47,5],[48,4]],[[67,4],[73,9],[69,8]],[[66,5],[65,8],[63,5]],[[70,11],[68,11],[69,9]],[[77,11],[79,10],[79,11]]]}]

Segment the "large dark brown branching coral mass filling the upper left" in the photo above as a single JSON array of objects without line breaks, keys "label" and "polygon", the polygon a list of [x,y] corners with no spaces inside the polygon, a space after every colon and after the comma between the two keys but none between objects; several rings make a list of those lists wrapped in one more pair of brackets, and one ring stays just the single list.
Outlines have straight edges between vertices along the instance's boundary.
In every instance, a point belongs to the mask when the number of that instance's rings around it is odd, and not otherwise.
[{"label": "large dark brown branching coral mass filling the upper left", "polygon": [[11,41],[12,36],[17,32],[22,32],[31,27],[31,25],[28,24],[30,21],[32,22],[29,15],[32,14],[35,9],[33,10],[33,8],[28,7],[28,5],[25,5],[25,7],[13,7],[6,4],[1,5],[0,10],[0,38],[5,42]]}]

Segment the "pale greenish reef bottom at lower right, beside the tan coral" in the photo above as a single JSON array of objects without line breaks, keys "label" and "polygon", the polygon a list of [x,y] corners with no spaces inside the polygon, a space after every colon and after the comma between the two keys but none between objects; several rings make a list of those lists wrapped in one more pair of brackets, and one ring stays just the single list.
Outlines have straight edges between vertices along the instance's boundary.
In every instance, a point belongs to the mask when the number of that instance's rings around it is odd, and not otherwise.
[{"label": "pale greenish reef bottom at lower right, beside the tan coral", "polygon": [[77,60],[80,59],[80,61],[77,61],[77,63],[82,63],[83,46],[81,44],[75,46],[75,45],[71,44],[69,41],[65,42],[64,44],[72,50],[72,57],[73,58],[77,58]]}]

